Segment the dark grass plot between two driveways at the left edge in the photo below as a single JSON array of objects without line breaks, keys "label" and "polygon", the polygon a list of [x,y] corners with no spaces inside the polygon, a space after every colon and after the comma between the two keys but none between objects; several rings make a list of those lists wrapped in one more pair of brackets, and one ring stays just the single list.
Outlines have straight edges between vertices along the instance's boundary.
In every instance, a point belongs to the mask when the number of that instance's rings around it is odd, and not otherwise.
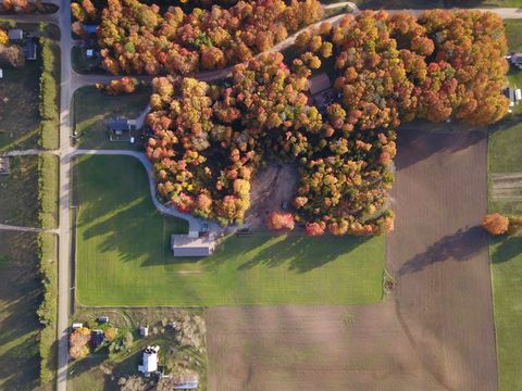
[{"label": "dark grass plot between two driveways at the left edge", "polygon": [[38,156],[10,157],[11,174],[0,175],[0,222],[38,226]]}]

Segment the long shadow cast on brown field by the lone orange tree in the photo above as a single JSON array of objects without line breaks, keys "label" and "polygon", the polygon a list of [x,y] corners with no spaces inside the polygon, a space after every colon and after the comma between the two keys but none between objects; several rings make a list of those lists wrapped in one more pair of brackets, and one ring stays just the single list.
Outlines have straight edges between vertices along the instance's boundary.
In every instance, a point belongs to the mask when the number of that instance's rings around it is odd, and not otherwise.
[{"label": "long shadow cast on brown field by the lone orange tree", "polygon": [[449,258],[468,261],[486,245],[486,237],[481,227],[473,226],[467,230],[459,229],[457,232],[445,236],[433,243],[423,253],[417,254],[407,261],[400,267],[399,275],[421,272],[426,266]]}]

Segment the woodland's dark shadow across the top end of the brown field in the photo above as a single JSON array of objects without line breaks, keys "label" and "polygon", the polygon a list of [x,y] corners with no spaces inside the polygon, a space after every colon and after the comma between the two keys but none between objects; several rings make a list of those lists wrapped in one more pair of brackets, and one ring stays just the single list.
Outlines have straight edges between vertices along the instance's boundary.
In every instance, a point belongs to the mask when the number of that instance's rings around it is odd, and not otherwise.
[{"label": "woodland's dark shadow across the top end of the brown field", "polygon": [[455,153],[481,142],[487,136],[484,130],[480,129],[452,133],[437,131],[438,127],[444,128],[445,125],[434,125],[425,121],[414,121],[401,125],[397,130],[396,168],[398,171],[407,168],[436,153]]}]

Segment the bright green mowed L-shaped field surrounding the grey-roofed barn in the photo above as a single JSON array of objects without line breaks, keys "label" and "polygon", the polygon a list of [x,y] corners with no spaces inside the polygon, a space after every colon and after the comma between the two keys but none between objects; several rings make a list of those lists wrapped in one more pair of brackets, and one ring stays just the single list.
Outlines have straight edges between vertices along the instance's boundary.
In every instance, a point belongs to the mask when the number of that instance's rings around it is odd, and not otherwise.
[{"label": "bright green mowed L-shaped field surrounding the grey-roofed barn", "polygon": [[233,237],[174,258],[184,222],[161,216],[129,156],[77,161],[77,300],[84,305],[351,304],[382,299],[384,238]]}]

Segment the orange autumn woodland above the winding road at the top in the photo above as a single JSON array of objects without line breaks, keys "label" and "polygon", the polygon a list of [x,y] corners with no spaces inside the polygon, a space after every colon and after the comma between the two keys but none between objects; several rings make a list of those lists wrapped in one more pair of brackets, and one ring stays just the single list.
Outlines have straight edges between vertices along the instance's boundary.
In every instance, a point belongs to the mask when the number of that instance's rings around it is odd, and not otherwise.
[{"label": "orange autumn woodland above the winding road at the top", "polygon": [[185,14],[137,0],[109,0],[100,13],[90,0],[72,3],[73,31],[85,35],[84,23],[100,21],[98,42],[103,66],[113,74],[183,74],[222,68],[248,61],[284,40],[288,33],[323,16],[318,0],[239,1],[229,9],[213,5]]}]

